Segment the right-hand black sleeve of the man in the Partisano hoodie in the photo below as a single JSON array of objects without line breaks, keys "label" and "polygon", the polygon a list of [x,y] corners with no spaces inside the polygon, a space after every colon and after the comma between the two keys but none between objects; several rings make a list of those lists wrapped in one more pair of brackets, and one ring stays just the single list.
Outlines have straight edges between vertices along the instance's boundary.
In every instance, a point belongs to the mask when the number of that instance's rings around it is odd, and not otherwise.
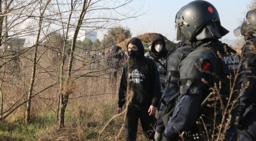
[{"label": "right-hand black sleeve of the man in the Partisano hoodie", "polygon": [[[153,62],[153,61],[152,61]],[[152,100],[152,106],[157,107],[161,98],[161,85],[160,85],[160,79],[157,71],[156,64],[153,62],[152,65],[152,86],[153,86],[153,100]]]}]

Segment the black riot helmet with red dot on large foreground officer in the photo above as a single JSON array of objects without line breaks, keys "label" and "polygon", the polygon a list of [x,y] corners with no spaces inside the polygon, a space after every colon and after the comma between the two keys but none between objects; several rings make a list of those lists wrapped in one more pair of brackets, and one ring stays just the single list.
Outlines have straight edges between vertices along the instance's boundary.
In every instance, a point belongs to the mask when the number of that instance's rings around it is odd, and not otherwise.
[{"label": "black riot helmet with red dot on large foreground officer", "polygon": [[175,17],[177,39],[187,41],[220,39],[229,31],[221,26],[216,8],[209,2],[196,0],[183,6]]}]

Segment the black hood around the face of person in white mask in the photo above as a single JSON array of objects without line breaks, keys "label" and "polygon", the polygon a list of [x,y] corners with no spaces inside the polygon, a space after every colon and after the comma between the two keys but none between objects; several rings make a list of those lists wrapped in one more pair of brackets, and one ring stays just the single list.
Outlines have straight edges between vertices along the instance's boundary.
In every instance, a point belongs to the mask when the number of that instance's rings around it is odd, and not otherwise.
[{"label": "black hood around the face of person in white mask", "polygon": [[[156,49],[155,49],[156,40],[162,40],[162,42],[163,42],[163,48],[160,52],[157,52]],[[166,49],[165,37],[163,37],[163,35],[157,34],[154,37],[154,39],[151,43],[151,51],[156,55],[157,58],[163,58],[163,57],[166,57],[168,55],[168,51]]]}]

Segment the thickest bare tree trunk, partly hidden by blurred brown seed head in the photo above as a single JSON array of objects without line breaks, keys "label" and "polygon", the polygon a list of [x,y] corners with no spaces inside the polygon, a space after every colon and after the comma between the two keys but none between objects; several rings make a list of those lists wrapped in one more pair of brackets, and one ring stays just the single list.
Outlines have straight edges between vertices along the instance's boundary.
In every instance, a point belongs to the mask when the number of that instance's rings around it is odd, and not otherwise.
[{"label": "thickest bare tree trunk, partly hidden by blurred brown seed head", "polygon": [[[69,57],[67,83],[68,83],[68,81],[70,79],[70,75],[71,75],[72,61],[73,61],[73,56],[74,56],[74,51],[75,51],[75,43],[76,43],[77,35],[79,33],[79,29],[81,27],[81,24],[83,22],[84,16],[86,14],[86,11],[87,11],[87,8],[88,8],[90,2],[91,2],[91,0],[89,2],[87,0],[84,0],[82,11],[81,11],[81,14],[79,16],[79,20],[77,21],[76,28],[75,28],[75,31],[74,31],[74,36],[73,36],[72,45],[71,45],[71,52],[70,52],[70,57]],[[68,104],[68,100],[69,100],[69,95],[65,95],[65,96],[61,95],[59,128],[64,128],[65,127],[65,111],[66,111],[66,107],[67,107],[67,104]]]}]

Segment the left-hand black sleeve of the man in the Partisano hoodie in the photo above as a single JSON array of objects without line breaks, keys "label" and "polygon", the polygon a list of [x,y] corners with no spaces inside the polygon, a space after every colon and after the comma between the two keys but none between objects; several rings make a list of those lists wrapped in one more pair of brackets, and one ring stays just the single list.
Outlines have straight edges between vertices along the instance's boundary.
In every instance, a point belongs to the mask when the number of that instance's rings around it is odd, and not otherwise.
[{"label": "left-hand black sleeve of the man in the Partisano hoodie", "polygon": [[126,80],[126,67],[127,65],[124,65],[121,81],[120,81],[120,87],[119,87],[119,92],[118,92],[118,107],[123,107],[125,104],[125,95],[126,95],[126,90],[127,90],[127,80]]}]

